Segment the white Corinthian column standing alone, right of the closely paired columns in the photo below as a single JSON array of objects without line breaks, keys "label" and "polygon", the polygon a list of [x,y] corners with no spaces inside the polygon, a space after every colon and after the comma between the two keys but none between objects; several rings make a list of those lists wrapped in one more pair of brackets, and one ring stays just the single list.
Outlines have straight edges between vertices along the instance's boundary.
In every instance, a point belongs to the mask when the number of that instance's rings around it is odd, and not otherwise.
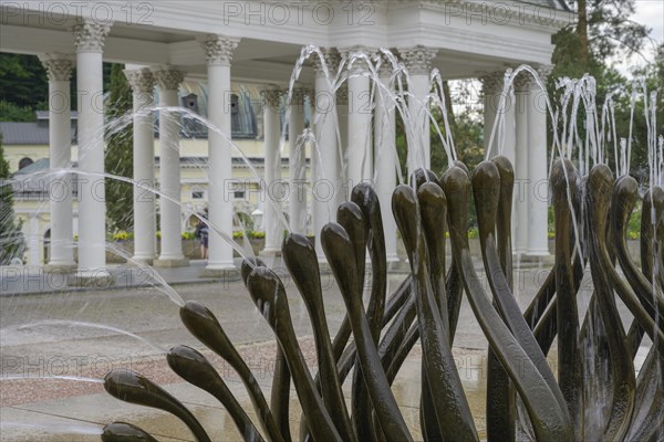
[{"label": "white Corinthian column standing alone, right of the closely paired columns", "polygon": [[210,34],[201,40],[206,54],[208,73],[208,119],[218,129],[210,130],[209,144],[209,220],[227,235],[221,235],[210,229],[209,261],[207,270],[224,272],[235,269],[232,246],[232,191],[230,180],[232,164],[230,155],[230,62],[232,52],[238,45],[238,39],[229,39]]}]

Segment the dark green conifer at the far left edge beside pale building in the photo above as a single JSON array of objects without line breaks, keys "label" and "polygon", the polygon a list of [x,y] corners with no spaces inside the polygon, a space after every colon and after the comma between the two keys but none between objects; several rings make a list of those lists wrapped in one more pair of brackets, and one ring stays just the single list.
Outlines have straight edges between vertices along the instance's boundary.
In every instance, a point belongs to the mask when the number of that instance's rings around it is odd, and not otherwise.
[{"label": "dark green conifer at the far left edge beside pale building", "polygon": [[15,257],[22,259],[25,241],[13,212],[12,187],[9,181],[9,162],[4,159],[2,134],[0,134],[0,265],[9,265]]}]

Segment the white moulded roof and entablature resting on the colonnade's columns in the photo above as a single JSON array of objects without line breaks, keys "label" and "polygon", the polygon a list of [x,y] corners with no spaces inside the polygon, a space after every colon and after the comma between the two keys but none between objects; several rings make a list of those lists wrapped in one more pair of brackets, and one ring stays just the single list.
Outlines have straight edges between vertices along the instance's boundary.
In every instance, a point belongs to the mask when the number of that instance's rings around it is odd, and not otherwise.
[{"label": "white moulded roof and entablature resting on the colonnade's columns", "polygon": [[[521,63],[549,64],[551,35],[574,17],[561,0],[432,1],[2,1],[0,51],[74,53],[82,19],[112,22],[104,60],[180,66],[205,77],[198,39],[241,39],[234,81],[286,84],[307,44],[339,49],[437,49],[444,78],[476,77]],[[311,70],[302,82],[311,83]]]}]

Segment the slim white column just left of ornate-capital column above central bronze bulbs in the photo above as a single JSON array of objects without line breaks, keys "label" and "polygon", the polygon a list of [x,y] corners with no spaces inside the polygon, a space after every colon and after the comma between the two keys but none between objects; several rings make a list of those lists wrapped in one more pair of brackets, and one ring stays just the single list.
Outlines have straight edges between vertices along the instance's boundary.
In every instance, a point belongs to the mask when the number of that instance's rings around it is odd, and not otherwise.
[{"label": "slim white column just left of ornate-capital column above central bronze bulbs", "polygon": [[390,83],[392,64],[383,61],[378,72],[381,87],[375,93],[375,162],[376,176],[375,189],[381,201],[381,215],[383,218],[383,230],[385,232],[385,252],[387,262],[398,262],[396,254],[396,222],[392,215],[392,193],[396,187],[396,168],[398,160],[396,156],[396,125],[395,125],[395,104],[391,99],[390,91],[393,85]]}]

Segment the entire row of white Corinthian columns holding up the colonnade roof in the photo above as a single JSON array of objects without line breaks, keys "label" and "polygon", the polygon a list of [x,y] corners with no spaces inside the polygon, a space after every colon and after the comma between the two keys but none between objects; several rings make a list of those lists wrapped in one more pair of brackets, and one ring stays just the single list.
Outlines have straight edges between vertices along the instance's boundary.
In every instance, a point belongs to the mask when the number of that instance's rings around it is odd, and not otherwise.
[{"label": "entire row of white Corinthian columns holding up the colonnade roof", "polygon": [[[49,73],[51,97],[69,99],[71,70],[77,69],[79,99],[79,266],[100,269],[105,266],[105,201],[104,201],[104,105],[102,61],[104,40],[110,25],[83,22],[74,30],[74,54],[45,54],[42,62]],[[232,249],[227,239],[232,238],[232,161],[231,161],[231,114],[230,67],[232,53],[239,40],[210,34],[199,39],[205,53],[208,83],[208,119],[212,128],[208,133],[208,210],[211,224],[209,238],[210,272],[235,269]],[[289,166],[288,206],[289,228],[293,232],[307,233],[307,208],[311,204],[313,232],[335,219],[336,207],[344,201],[354,185],[371,180],[383,208],[383,225],[386,233],[386,252],[391,261],[397,261],[396,224],[391,213],[391,196],[396,185],[397,158],[395,150],[395,104],[390,96],[392,66],[383,60],[378,70],[381,87],[370,80],[365,55],[375,54],[375,49],[353,46],[325,49],[326,71],[319,60],[313,60],[315,70],[313,90],[298,84],[290,101],[284,103],[283,90],[269,87],[263,92],[264,124],[264,196],[266,196],[266,249],[264,254],[278,254],[286,217],[281,213],[283,188],[272,186],[281,180],[280,113],[288,106]],[[436,50],[415,46],[398,49],[409,71],[407,112],[411,127],[406,128],[408,144],[421,146],[411,149],[408,169],[430,166],[430,141],[427,113],[430,63]],[[325,72],[334,75],[342,61],[351,62],[345,87],[334,90],[333,81]],[[149,69],[127,65],[125,75],[134,99],[134,259],[154,265],[186,265],[181,249],[180,224],[180,164],[179,164],[179,115],[167,108],[178,106],[177,91],[184,73],[175,66]],[[496,96],[500,93],[496,74],[485,80],[486,130],[490,130],[496,118]],[[522,83],[522,84],[521,84]],[[526,206],[517,206],[516,251],[543,254],[547,245],[547,201],[531,198],[541,190],[536,179],[546,179],[546,114],[537,107],[535,85],[521,82],[517,88],[517,102],[525,98],[525,113],[508,106],[506,113],[505,143],[513,146],[507,155],[515,161],[518,180],[526,180]],[[154,87],[159,90],[159,212],[160,255],[156,255],[156,188],[154,177],[154,127],[149,110]],[[372,92],[373,91],[373,92]],[[313,106],[310,137],[311,176],[307,182],[304,103]],[[71,126],[69,107],[56,112],[51,102],[50,149],[51,167],[65,168],[71,162]],[[66,107],[66,106],[65,106]],[[372,130],[373,127],[373,130]],[[488,136],[485,134],[485,138]],[[65,181],[71,177],[63,173]],[[66,181],[70,180],[70,181]],[[308,190],[310,189],[310,190]],[[519,189],[519,188],[518,188]],[[517,198],[519,191],[517,190]],[[525,209],[527,208],[527,209]],[[543,218],[542,218],[543,217]],[[74,265],[72,239],[71,192],[65,199],[51,199],[51,262],[53,265]],[[522,229],[526,222],[528,229]],[[543,229],[543,231],[542,231]],[[216,234],[215,232],[222,234]],[[527,232],[527,233],[525,233]],[[226,236],[226,238],[224,238]],[[324,256],[317,241],[319,256]]]}]

